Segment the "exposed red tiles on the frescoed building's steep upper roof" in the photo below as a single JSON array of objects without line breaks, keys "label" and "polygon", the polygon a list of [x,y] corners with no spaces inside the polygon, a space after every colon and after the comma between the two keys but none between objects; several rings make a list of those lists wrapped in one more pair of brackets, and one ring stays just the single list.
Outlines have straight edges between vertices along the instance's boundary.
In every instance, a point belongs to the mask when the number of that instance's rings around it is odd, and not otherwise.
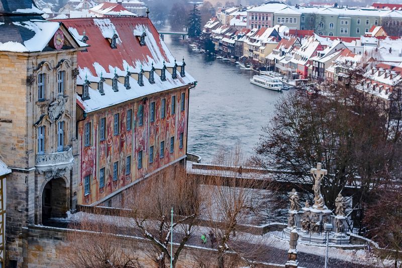
[{"label": "exposed red tiles on the frescoed building's steep upper roof", "polygon": [[108,66],[115,66],[124,70],[123,61],[129,64],[137,61],[145,62],[147,57],[153,58],[150,51],[150,46],[141,46],[140,41],[133,35],[136,26],[147,27],[148,31],[152,33],[159,48],[162,59],[153,59],[156,62],[165,60],[169,62],[164,49],[160,43],[159,34],[148,18],[142,17],[111,17],[108,18],[116,27],[116,32],[122,41],[117,44],[117,49],[112,49],[110,42],[102,35],[99,27],[94,23],[94,18],[79,18],[79,19],[66,19],[60,20],[67,29],[75,28],[80,35],[88,37],[87,48],[85,55],[78,55],[78,66],[80,68],[87,67],[92,74],[95,74],[93,63],[97,62],[108,70]]}]

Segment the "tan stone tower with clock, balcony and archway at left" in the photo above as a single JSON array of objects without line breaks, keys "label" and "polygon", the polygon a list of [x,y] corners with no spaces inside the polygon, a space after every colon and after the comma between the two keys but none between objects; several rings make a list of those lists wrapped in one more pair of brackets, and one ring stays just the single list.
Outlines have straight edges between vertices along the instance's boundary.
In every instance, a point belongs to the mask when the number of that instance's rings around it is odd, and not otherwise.
[{"label": "tan stone tower with clock, balcony and archway at left", "polygon": [[0,0],[0,159],[7,178],[6,266],[24,262],[24,227],[75,207],[80,46],[31,0]]}]

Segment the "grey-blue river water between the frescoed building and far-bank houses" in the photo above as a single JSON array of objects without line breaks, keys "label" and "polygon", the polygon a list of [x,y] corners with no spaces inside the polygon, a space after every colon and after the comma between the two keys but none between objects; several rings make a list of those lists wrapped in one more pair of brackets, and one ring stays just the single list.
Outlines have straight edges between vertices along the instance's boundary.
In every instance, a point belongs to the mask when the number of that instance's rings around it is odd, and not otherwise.
[{"label": "grey-blue river water between the frescoed building and far-bank houses", "polygon": [[274,115],[274,105],[288,91],[275,92],[253,85],[253,71],[240,70],[234,63],[197,51],[165,35],[170,51],[196,80],[190,90],[188,153],[210,162],[220,146],[240,144],[245,158],[252,156],[266,125]]}]

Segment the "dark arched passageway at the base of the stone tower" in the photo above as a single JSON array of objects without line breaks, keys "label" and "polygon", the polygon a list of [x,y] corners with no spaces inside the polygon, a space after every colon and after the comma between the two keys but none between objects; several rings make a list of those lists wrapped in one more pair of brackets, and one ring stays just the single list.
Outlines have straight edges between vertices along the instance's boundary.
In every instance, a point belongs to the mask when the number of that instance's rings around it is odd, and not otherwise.
[{"label": "dark arched passageway at the base of the stone tower", "polygon": [[42,224],[50,218],[61,218],[67,212],[67,187],[62,178],[46,183],[42,191]]}]

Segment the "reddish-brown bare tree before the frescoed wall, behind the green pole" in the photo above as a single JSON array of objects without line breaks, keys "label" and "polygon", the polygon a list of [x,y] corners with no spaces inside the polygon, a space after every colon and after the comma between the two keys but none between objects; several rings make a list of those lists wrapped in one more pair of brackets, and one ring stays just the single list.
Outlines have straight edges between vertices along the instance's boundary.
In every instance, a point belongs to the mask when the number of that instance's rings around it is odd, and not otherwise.
[{"label": "reddish-brown bare tree before the frescoed wall, behind the green pole", "polygon": [[[127,198],[132,209],[135,228],[150,241],[148,255],[159,268],[172,258],[175,267],[179,254],[191,234],[202,204],[198,185],[182,166],[169,167],[148,178]],[[175,214],[171,224],[171,210]],[[170,255],[169,243],[173,230],[178,246]]]}]

